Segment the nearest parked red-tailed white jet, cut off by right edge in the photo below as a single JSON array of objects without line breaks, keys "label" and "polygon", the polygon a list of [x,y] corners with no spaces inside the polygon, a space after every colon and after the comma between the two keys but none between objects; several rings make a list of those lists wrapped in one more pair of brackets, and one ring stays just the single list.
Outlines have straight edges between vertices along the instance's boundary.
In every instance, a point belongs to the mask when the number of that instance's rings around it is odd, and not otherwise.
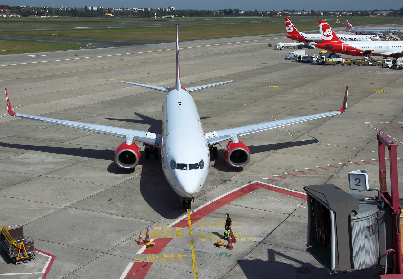
[{"label": "nearest parked red-tailed white jet, cut off by right edge", "polygon": [[316,47],[353,56],[374,55],[398,58],[403,56],[403,41],[343,42],[334,33],[326,20],[319,20],[322,43]]}]

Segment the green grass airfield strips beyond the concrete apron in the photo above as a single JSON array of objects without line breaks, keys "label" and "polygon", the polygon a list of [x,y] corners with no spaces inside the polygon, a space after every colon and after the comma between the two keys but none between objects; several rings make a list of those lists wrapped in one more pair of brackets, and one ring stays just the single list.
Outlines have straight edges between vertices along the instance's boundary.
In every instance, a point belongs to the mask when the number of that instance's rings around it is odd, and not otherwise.
[{"label": "green grass airfield strips beyond the concrete apron", "polygon": [[[299,31],[316,31],[318,19],[326,19],[333,28],[343,27],[344,20],[348,19],[354,26],[365,24],[388,24],[394,20],[392,17],[339,17],[341,24],[335,24],[335,17],[291,17],[294,25]],[[223,23],[211,25],[181,25],[184,23]],[[238,22],[239,24],[226,24],[228,22]],[[167,26],[136,27],[139,24],[161,24]],[[229,37],[244,37],[253,35],[265,35],[285,33],[285,24],[283,17],[274,18],[161,18],[154,20],[152,18],[4,18],[0,17],[0,28],[20,28],[27,27],[89,27],[97,26],[99,29],[63,29],[63,30],[22,30],[22,31],[0,31],[1,35],[13,35],[21,37],[57,37],[70,39],[89,39],[89,40],[118,40],[118,41],[174,41],[176,37],[175,26],[179,25],[179,39],[197,40],[197,39],[218,39]],[[105,27],[105,28],[102,28]],[[110,28],[113,27],[113,28]],[[317,32],[315,32],[317,33]],[[56,34],[52,36],[52,34]],[[56,51],[61,49],[73,49],[83,47],[78,44],[51,43],[39,41],[23,41],[0,39],[1,54],[30,53]],[[4,51],[8,50],[8,51]]]}]

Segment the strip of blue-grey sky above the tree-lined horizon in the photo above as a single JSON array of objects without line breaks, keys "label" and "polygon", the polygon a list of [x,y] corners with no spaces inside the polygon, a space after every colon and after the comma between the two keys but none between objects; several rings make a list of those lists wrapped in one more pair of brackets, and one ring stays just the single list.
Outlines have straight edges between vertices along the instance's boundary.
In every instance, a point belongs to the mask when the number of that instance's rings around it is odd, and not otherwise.
[{"label": "strip of blue-grey sky above the tree-lined horizon", "polygon": [[174,7],[178,10],[218,10],[224,8],[237,8],[240,10],[399,10],[403,7],[403,2],[396,0],[288,0],[286,2],[267,0],[5,0],[1,4],[10,6],[31,6],[31,7],[103,7],[103,8],[168,8]]}]

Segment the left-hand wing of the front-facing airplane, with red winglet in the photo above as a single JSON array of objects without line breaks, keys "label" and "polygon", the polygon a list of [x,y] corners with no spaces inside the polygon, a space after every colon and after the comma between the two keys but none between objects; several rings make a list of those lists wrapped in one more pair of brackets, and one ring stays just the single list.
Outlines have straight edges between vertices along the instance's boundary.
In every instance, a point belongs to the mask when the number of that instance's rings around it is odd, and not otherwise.
[{"label": "left-hand wing of the front-facing airplane, with red winglet", "polygon": [[133,140],[135,140],[135,141],[139,141],[141,143],[145,143],[147,145],[152,145],[154,147],[161,148],[161,135],[160,134],[154,134],[151,132],[131,130],[131,129],[125,129],[125,128],[119,128],[119,127],[105,126],[105,125],[99,125],[99,124],[89,124],[89,123],[83,123],[83,122],[61,120],[61,119],[34,116],[34,115],[13,112],[11,109],[11,106],[10,106],[10,101],[8,99],[7,89],[5,89],[5,91],[6,91],[6,100],[7,100],[7,110],[8,110],[8,114],[10,114],[11,116],[33,119],[33,120],[38,120],[38,121],[42,121],[42,122],[47,122],[47,123],[52,123],[52,124],[57,124],[57,125],[62,125],[62,126],[67,126],[67,127],[72,127],[72,128],[79,128],[82,130],[98,132],[98,133],[102,133],[102,134],[109,134],[112,136],[120,136],[122,138],[126,138],[127,143],[131,143]]}]

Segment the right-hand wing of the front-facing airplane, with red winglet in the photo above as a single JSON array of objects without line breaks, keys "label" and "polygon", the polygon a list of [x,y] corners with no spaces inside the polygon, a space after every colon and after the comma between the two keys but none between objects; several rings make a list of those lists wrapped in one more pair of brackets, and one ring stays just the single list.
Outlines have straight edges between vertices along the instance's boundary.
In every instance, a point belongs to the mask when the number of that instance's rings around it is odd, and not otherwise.
[{"label": "right-hand wing of the front-facing airplane, with red winglet", "polygon": [[291,125],[291,124],[296,124],[296,123],[300,123],[300,122],[304,122],[304,121],[308,121],[308,120],[313,120],[313,119],[318,119],[318,118],[322,118],[322,117],[341,114],[341,113],[345,112],[345,110],[347,108],[347,92],[348,92],[348,87],[346,86],[343,107],[340,110],[208,132],[208,133],[206,133],[207,142],[210,145],[214,145],[214,144],[220,143],[221,141],[226,141],[231,138],[231,140],[234,143],[237,143],[238,137],[244,136],[246,134],[252,134],[252,133],[269,130],[269,129],[273,129],[273,128],[278,128],[278,127],[283,127],[283,126],[287,126],[287,125]]}]

